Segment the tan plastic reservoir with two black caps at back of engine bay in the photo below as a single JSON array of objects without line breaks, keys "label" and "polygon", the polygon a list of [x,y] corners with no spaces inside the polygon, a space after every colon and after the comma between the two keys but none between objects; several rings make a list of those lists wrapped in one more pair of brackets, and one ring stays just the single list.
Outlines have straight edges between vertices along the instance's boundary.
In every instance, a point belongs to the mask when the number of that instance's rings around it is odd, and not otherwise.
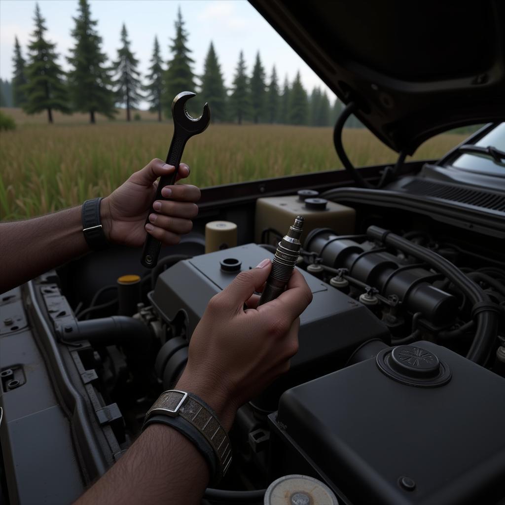
[{"label": "tan plastic reservoir with two black caps at back of engine bay", "polygon": [[[302,189],[296,195],[269,196],[256,201],[256,243],[276,243],[293,224],[296,216],[303,216],[304,232],[300,241],[315,228],[331,228],[338,235],[355,233],[356,211],[345,205],[317,197],[316,191]],[[268,232],[270,230],[270,232]]]}]

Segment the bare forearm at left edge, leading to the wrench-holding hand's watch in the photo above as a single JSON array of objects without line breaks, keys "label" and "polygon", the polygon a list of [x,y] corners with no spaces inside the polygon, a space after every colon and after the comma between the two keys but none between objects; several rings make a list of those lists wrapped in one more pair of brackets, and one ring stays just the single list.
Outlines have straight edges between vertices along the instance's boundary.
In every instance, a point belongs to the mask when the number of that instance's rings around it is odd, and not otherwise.
[{"label": "bare forearm at left edge, leading to the wrench-holding hand's watch", "polygon": [[89,251],[82,233],[81,207],[26,221],[0,224],[0,292]]}]

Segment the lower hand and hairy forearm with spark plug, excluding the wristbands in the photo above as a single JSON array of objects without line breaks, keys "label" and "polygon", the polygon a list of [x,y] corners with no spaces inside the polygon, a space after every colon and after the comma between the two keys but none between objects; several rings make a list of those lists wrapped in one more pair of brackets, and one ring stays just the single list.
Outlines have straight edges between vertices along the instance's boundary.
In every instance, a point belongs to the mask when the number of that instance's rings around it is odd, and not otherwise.
[{"label": "lower hand and hairy forearm with spark plug, excluding the wristbands", "polygon": [[[312,300],[304,276],[295,269],[286,291],[258,307],[254,292],[261,291],[270,269],[265,260],[241,272],[211,299],[176,386],[209,403],[226,429],[242,403],[289,369],[298,350],[298,316]],[[153,424],[77,503],[196,504],[208,481],[207,464],[193,443],[175,429]]]}]

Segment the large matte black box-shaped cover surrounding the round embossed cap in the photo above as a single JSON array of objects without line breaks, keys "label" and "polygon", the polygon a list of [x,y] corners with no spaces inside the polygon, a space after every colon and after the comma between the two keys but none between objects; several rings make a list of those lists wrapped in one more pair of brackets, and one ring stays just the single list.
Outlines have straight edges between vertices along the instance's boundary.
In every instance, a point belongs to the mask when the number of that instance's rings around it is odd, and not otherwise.
[{"label": "large matte black box-shaped cover surrounding the round embossed cap", "polygon": [[413,387],[372,358],[286,391],[271,416],[277,432],[353,503],[494,503],[505,475],[505,380],[445,347],[412,345],[443,361],[450,380]]}]

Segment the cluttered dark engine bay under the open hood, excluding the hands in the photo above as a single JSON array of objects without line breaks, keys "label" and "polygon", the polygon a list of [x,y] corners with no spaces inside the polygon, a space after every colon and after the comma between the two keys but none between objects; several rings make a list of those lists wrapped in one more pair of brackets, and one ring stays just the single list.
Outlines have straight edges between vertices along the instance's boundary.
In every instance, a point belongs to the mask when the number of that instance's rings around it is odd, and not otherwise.
[{"label": "cluttered dark engine bay under the open hood, excluding the hands", "polygon": [[[263,197],[245,218],[235,210],[247,230],[236,244],[214,240],[217,250],[205,252],[204,213],[150,273],[135,273],[136,256],[118,260],[106,251],[4,295],[4,313],[19,316],[4,328],[12,339],[0,373],[5,416],[39,429],[49,423],[27,407],[8,414],[5,398],[16,394],[38,394],[37,413],[70,406],[46,433],[66,432],[78,455],[78,471],[60,468],[67,497],[131,445],[145,412],[182,373],[209,300],[273,257],[284,223],[300,213],[309,225],[297,268],[313,301],[300,317],[299,350],[287,374],[239,409],[234,461],[223,490],[208,490],[206,499],[263,502],[272,481],[296,474],[323,482],[339,503],[501,502],[502,241],[415,212],[299,193]],[[59,391],[52,398],[39,392],[51,389],[48,380],[33,381],[43,365],[30,369],[37,358],[26,358],[30,327]],[[23,467],[26,455],[15,447],[25,433],[10,430],[7,484],[16,480],[18,500],[29,501],[35,491],[14,468]],[[72,450],[62,442],[60,451]]]}]

